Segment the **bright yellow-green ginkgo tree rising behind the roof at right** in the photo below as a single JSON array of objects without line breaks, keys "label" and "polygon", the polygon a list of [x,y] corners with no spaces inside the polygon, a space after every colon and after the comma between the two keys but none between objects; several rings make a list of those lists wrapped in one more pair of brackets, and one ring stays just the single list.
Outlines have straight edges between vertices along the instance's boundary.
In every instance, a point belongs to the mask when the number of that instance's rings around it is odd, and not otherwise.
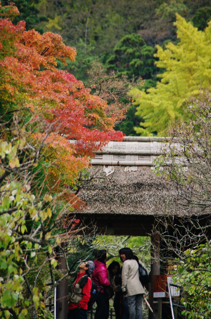
[{"label": "bright yellow-green ginkgo tree rising behind the roof at right", "polygon": [[156,65],[165,68],[159,74],[160,82],[147,92],[132,89],[137,115],[145,120],[142,127],[135,128],[141,135],[165,134],[171,122],[184,116],[186,100],[199,93],[199,88],[211,83],[211,22],[198,31],[191,22],[176,15],[175,26],[179,42],[169,42],[163,49],[157,45]]}]

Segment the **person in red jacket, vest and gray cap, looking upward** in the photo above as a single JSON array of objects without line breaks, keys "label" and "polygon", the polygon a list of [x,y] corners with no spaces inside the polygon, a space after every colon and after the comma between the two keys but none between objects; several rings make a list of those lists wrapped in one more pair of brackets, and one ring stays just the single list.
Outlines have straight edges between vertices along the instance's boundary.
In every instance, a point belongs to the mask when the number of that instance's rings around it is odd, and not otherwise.
[{"label": "person in red jacket, vest and gray cap, looking upward", "polygon": [[88,316],[87,303],[90,300],[92,288],[90,274],[94,269],[94,263],[92,261],[83,262],[79,265],[79,269],[71,285],[67,319],[87,319]]}]

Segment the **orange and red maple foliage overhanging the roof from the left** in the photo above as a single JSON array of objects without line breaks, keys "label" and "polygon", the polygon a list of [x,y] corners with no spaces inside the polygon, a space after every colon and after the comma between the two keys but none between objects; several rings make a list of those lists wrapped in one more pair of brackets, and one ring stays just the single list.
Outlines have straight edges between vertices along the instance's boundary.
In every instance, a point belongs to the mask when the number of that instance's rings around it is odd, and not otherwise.
[{"label": "orange and red maple foliage overhanging the roof from the left", "polygon": [[26,31],[24,21],[13,25],[8,18],[18,14],[17,8],[13,4],[6,11],[2,8],[1,113],[9,109],[20,110],[28,118],[32,114],[35,144],[50,132],[44,151],[45,161],[54,163],[50,173],[73,185],[78,172],[87,167],[89,156],[109,140],[123,139],[122,132],[113,130],[123,114],[92,95],[72,74],[56,68],[57,60],[65,64],[66,59],[75,59],[75,48],[66,46],[58,34]]}]

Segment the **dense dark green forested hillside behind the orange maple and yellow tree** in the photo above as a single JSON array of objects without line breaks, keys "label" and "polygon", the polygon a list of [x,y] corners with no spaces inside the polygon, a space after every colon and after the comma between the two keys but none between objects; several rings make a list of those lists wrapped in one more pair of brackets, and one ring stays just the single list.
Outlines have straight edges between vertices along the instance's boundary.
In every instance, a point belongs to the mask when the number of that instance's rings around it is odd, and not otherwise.
[{"label": "dense dark green forested hillside behind the orange maple and yellow tree", "polygon": [[[65,69],[87,86],[89,71],[100,62],[107,72],[119,72],[119,77],[142,77],[145,84],[140,90],[155,87],[157,74],[164,70],[154,65],[155,45],[165,48],[169,41],[179,41],[175,14],[198,30],[211,20],[210,0],[16,0],[15,5],[20,16],[14,24],[25,20],[27,30],[58,33],[66,45],[77,49],[76,60],[67,61]],[[58,63],[58,68],[64,65]],[[132,105],[115,129],[139,135],[134,127],[143,119],[135,113]]]}]

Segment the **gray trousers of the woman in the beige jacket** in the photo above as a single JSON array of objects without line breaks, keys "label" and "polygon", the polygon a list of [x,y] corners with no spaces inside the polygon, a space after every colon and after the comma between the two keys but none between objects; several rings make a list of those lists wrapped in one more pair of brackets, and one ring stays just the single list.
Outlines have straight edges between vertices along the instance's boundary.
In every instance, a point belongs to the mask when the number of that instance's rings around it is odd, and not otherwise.
[{"label": "gray trousers of the woman in the beige jacket", "polygon": [[128,296],[129,319],[143,319],[142,294]]}]

